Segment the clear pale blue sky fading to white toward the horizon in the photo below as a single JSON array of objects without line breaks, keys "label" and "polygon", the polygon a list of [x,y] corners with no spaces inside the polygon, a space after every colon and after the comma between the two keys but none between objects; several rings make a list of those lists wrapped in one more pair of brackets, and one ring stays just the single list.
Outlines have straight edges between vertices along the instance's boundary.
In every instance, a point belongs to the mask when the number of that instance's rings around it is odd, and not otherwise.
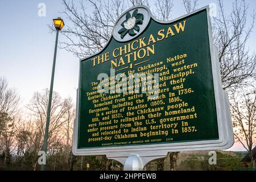
[{"label": "clear pale blue sky fading to white toward the horizon", "polygon": [[[78,2],[78,1],[74,1]],[[150,1],[154,6],[154,1]],[[247,1],[249,12],[253,12],[256,1]],[[46,5],[46,16],[39,16],[40,3]],[[217,3],[217,1],[199,0],[198,8]],[[85,4],[88,4],[85,2]],[[174,0],[172,18],[185,14],[180,0]],[[232,1],[224,1],[226,11],[230,11]],[[92,10],[87,6],[88,12]],[[61,13],[64,6],[60,0],[1,0],[0,1],[0,76],[9,81],[9,86],[18,90],[22,98],[21,105],[25,106],[31,100],[32,94],[49,88],[52,72],[55,33],[50,34],[47,24],[53,18],[61,17],[65,24],[69,22]],[[248,17],[251,22],[250,16]],[[64,27],[65,28],[65,27]],[[254,28],[255,30],[255,28]],[[59,40],[64,37],[59,35]],[[253,32],[249,40],[249,47],[256,50],[256,34]],[[61,97],[76,100],[76,89],[79,79],[79,58],[65,51],[57,50],[56,70],[53,90]],[[230,150],[243,150],[236,144]]]}]

